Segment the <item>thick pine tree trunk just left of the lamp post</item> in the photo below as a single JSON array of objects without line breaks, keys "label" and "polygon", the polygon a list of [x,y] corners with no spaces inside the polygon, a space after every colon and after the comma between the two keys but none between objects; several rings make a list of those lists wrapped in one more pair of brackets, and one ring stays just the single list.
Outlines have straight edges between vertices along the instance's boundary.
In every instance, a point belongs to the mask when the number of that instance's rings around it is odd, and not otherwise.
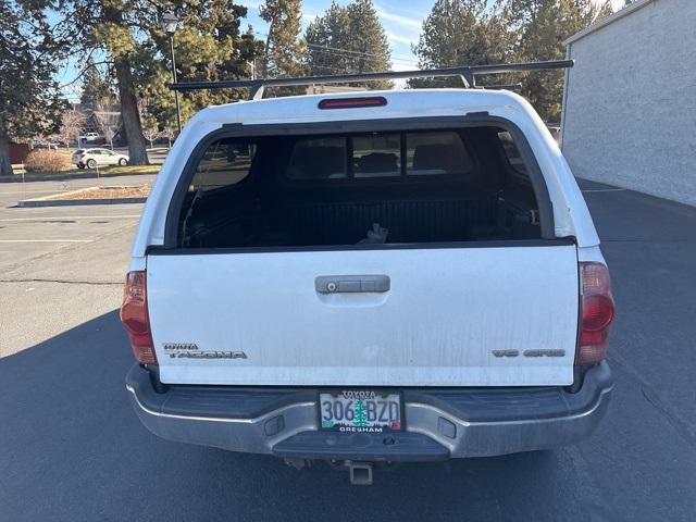
[{"label": "thick pine tree trunk just left of the lamp post", "polygon": [[115,70],[119,96],[121,98],[121,117],[128,139],[128,163],[130,165],[147,165],[149,164],[148,152],[145,137],[142,136],[142,123],[140,122],[130,64],[127,58],[116,59]]}]

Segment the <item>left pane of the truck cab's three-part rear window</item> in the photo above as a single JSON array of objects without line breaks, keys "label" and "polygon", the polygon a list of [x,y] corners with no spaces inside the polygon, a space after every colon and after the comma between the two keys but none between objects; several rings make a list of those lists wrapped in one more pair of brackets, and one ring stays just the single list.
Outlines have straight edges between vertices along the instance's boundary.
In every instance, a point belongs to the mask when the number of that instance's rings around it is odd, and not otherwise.
[{"label": "left pane of the truck cab's three-part rear window", "polygon": [[348,177],[347,138],[303,138],[295,144],[286,175],[290,179]]}]

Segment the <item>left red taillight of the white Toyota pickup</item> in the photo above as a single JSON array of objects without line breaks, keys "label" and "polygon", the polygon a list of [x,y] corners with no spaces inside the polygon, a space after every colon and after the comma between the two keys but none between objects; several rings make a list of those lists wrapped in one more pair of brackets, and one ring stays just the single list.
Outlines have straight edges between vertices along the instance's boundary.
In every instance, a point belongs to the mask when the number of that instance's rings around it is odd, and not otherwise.
[{"label": "left red taillight of the white Toyota pickup", "polygon": [[157,364],[157,355],[150,332],[146,272],[128,272],[123,289],[121,322],[130,337],[130,347],[141,364]]}]

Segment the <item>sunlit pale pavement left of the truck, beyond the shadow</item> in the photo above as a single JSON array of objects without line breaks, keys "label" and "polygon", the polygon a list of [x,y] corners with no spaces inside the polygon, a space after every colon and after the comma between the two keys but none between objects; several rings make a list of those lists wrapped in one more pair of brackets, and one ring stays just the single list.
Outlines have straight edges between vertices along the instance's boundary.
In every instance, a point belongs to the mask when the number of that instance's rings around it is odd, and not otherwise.
[{"label": "sunlit pale pavement left of the truck, beyond the shadow", "polygon": [[152,175],[0,183],[0,357],[34,346],[120,300],[141,204],[15,208],[18,199]]}]

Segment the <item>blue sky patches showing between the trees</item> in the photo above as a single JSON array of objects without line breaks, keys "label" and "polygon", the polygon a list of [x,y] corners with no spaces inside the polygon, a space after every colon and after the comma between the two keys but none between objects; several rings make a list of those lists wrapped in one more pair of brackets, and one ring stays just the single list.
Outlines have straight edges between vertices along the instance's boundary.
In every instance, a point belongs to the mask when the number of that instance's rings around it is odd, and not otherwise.
[{"label": "blue sky patches showing between the trees", "polygon": [[[604,0],[594,0],[604,3]],[[384,26],[391,48],[391,63],[395,71],[408,71],[418,69],[415,55],[411,52],[411,45],[418,44],[421,24],[433,7],[434,0],[373,0]],[[237,0],[238,4],[249,8],[247,18],[243,21],[243,28],[251,24],[259,38],[264,38],[268,24],[259,17],[259,7],[263,0]],[[338,0],[340,4],[349,3],[349,0]],[[612,0],[614,10],[623,5],[623,0]],[[303,0],[302,1],[302,28],[307,28],[312,20],[322,14],[331,5],[331,0]],[[75,64],[69,63],[59,74],[59,83],[71,82],[77,70]],[[66,96],[74,101],[79,97],[79,86],[73,85],[63,89]]]}]

